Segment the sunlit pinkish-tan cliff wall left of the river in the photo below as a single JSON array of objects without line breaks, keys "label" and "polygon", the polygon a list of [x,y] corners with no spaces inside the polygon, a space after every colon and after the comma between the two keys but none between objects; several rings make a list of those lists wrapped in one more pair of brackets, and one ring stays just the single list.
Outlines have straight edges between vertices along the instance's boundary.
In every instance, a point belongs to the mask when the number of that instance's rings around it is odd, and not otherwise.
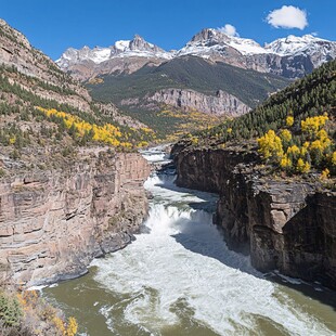
[{"label": "sunlit pinkish-tan cliff wall left of the river", "polygon": [[148,173],[139,154],[101,152],[66,171],[2,180],[2,277],[34,285],[77,276],[92,258],[126,246],[147,214]]}]

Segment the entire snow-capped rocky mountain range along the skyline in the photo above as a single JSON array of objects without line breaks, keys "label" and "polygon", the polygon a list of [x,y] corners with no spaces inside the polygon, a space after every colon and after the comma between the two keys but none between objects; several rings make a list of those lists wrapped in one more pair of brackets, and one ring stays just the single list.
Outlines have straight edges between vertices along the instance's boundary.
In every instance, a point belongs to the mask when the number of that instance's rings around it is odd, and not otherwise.
[{"label": "entire snow-capped rocky mountain range along the skyline", "polygon": [[312,35],[290,35],[262,47],[251,39],[233,37],[219,29],[207,28],[196,34],[178,51],[164,51],[135,36],[133,40],[117,41],[109,48],[69,48],[56,63],[76,78],[86,80],[102,74],[130,74],[144,64],[158,65],[185,55],[297,78],[335,59],[336,42]]}]

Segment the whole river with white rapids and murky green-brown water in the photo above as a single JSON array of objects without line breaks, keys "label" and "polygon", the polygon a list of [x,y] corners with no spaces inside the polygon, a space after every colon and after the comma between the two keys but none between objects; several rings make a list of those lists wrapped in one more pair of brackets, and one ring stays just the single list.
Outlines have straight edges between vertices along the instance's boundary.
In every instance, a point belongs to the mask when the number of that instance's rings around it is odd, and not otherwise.
[{"label": "whole river with white rapids and murky green-brown water", "polygon": [[[143,155],[166,159],[158,150]],[[43,289],[77,319],[80,335],[336,334],[334,292],[257,272],[212,224],[217,196],[173,180],[153,173],[145,182],[150,216],[131,245],[94,260],[87,275]]]}]

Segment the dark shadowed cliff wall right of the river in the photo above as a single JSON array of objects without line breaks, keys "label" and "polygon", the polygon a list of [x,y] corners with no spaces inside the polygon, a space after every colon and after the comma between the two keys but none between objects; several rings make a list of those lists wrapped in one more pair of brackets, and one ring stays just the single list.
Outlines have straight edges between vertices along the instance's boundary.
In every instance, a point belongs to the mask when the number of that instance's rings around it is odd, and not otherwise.
[{"label": "dark shadowed cliff wall right of the river", "polygon": [[176,147],[177,184],[220,195],[215,222],[230,248],[249,251],[260,271],[336,288],[336,194],[246,171],[257,157],[230,150]]}]

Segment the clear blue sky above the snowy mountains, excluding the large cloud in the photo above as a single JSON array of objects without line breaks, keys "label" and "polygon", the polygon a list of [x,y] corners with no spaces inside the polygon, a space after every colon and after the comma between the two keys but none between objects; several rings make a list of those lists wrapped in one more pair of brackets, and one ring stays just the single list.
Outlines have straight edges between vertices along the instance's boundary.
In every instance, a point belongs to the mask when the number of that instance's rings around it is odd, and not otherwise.
[{"label": "clear blue sky above the snowy mountains, excluding the large cloud", "polygon": [[[269,24],[270,12],[283,5],[306,11],[308,26]],[[335,14],[336,0],[0,0],[0,17],[54,60],[68,47],[107,47],[134,34],[180,49],[202,28],[225,24],[261,44],[289,34],[336,40]]]}]

